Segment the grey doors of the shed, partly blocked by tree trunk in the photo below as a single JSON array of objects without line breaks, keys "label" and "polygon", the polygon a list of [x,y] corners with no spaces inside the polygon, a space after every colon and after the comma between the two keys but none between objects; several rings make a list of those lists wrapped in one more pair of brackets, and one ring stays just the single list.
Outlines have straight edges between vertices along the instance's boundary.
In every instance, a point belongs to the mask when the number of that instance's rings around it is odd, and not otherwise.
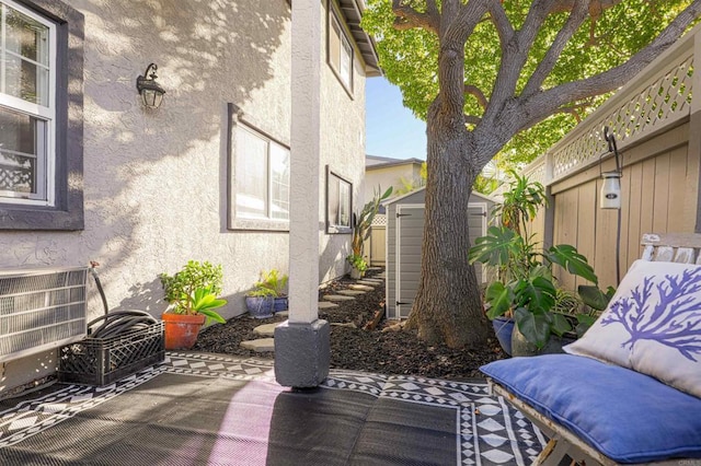
[{"label": "grey doors of the shed, partly blocked by tree trunk", "polygon": [[[421,246],[424,234],[424,206],[397,206],[397,303],[394,318],[406,318],[412,310],[421,277]],[[470,242],[486,233],[486,206],[468,207]],[[468,252],[466,251],[466,260]],[[475,264],[478,283],[483,282],[482,265]]]}]

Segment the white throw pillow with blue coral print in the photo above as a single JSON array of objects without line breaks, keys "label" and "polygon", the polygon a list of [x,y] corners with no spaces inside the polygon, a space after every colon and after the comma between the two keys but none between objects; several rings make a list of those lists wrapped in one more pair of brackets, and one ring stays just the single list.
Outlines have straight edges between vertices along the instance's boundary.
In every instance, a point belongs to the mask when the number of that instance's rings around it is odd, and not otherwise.
[{"label": "white throw pillow with blue coral print", "polygon": [[598,321],[564,349],[701,398],[701,267],[636,260]]}]

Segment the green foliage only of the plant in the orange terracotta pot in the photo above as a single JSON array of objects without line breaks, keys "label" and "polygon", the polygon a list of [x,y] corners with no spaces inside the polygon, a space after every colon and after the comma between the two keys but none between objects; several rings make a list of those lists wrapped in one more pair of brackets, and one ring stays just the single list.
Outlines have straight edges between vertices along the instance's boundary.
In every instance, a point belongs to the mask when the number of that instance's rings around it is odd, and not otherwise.
[{"label": "green foliage only of the plant in the orange terracotta pot", "polygon": [[219,314],[211,312],[212,308],[227,303],[226,300],[217,298],[221,293],[223,283],[221,265],[189,260],[175,275],[161,273],[159,278],[163,286],[165,301],[171,304],[170,312],[189,315],[200,313],[215,321],[223,322]]}]

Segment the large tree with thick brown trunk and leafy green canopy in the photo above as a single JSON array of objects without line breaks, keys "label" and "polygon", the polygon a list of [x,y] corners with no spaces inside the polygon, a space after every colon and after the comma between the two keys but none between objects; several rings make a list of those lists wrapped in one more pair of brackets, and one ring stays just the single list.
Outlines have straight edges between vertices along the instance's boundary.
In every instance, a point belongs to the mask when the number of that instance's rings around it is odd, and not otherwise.
[{"label": "large tree with thick brown trunk and leafy green canopy", "polygon": [[478,174],[499,152],[544,153],[699,15],[701,0],[367,1],[382,71],[426,119],[422,272],[404,328],[452,348],[486,342],[474,270],[456,260]]}]

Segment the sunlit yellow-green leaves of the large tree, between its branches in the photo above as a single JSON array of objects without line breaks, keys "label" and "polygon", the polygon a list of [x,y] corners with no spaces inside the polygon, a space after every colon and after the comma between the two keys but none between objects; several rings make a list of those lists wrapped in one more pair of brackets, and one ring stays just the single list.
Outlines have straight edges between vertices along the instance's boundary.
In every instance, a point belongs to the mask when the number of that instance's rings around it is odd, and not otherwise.
[{"label": "sunlit yellow-green leaves of the large tree, between its branches", "polygon": [[[427,9],[426,1],[403,3],[411,4],[418,12]],[[521,27],[531,2],[505,0],[501,3],[513,27]],[[561,5],[561,12],[549,15],[538,32],[520,72],[517,94],[543,61],[555,36],[568,19],[570,11],[566,7],[571,2],[555,3],[567,5]],[[622,65],[650,44],[691,1],[629,0],[593,3],[589,19],[562,50],[556,65],[542,84],[543,89],[588,78]],[[609,3],[617,4],[606,8]],[[437,5],[440,8],[439,1]],[[384,75],[401,89],[404,106],[425,120],[428,107],[439,92],[437,35],[426,28],[399,25],[401,22],[395,21],[397,15],[390,0],[367,0],[367,7],[363,26],[377,38]],[[464,113],[467,123],[470,124],[482,116],[499,70],[502,44],[492,21],[484,19],[478,24],[466,43],[464,54]],[[498,156],[502,163],[513,166],[532,161],[609,95],[610,93],[605,93],[571,102],[561,106],[559,113],[517,133],[501,150]]]}]

